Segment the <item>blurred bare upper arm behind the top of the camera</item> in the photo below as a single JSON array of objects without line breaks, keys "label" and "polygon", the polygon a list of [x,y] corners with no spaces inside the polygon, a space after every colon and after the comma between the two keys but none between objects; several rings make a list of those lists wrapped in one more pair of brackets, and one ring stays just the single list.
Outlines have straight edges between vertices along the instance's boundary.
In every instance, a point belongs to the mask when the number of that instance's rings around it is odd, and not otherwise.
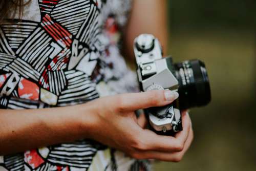
[{"label": "blurred bare upper arm behind the top of the camera", "polygon": [[133,41],[142,33],[150,33],[157,37],[163,46],[163,53],[167,49],[167,3],[166,0],[136,0],[129,22],[124,30],[124,49],[126,58],[132,59]]}]

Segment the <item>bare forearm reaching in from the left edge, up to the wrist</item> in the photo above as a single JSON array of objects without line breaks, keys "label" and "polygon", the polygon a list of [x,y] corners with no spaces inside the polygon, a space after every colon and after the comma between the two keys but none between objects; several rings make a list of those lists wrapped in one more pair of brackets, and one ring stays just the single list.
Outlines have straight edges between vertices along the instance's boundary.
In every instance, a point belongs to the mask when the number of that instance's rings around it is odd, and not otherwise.
[{"label": "bare forearm reaching in from the left edge, up to the wrist", "polygon": [[0,155],[86,138],[90,120],[82,118],[89,115],[89,106],[85,105],[0,110]]}]

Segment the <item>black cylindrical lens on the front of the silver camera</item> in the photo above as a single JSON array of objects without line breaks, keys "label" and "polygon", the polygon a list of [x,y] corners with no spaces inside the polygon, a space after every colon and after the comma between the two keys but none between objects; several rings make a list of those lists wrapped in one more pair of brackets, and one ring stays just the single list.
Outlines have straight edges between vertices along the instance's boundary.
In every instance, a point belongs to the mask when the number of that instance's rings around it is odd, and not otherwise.
[{"label": "black cylindrical lens on the front of the silver camera", "polygon": [[210,102],[210,84],[204,62],[187,60],[175,63],[176,78],[179,81],[179,108],[189,109],[204,106]]}]

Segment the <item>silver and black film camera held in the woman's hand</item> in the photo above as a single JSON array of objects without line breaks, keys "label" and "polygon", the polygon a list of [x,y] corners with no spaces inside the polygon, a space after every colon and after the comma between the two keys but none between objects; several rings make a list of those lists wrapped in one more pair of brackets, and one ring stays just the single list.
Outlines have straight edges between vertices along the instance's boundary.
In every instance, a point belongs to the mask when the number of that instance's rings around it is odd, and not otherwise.
[{"label": "silver and black film camera held in the woman's hand", "polygon": [[204,106],[211,100],[204,62],[195,59],[174,63],[172,57],[162,56],[160,42],[151,34],[135,38],[134,54],[141,91],[173,90],[179,93],[179,98],[172,104],[144,110],[151,128],[160,135],[182,131],[180,111]]}]

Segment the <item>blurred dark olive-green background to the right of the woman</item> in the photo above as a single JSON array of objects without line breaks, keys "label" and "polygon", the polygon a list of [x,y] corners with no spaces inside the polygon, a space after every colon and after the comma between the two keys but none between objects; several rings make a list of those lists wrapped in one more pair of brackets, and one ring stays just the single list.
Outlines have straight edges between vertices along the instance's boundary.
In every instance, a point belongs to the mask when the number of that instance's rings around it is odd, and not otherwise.
[{"label": "blurred dark olive-green background to the right of the woman", "polygon": [[169,54],[206,63],[212,101],[192,109],[194,142],[155,170],[256,170],[256,1],[168,1]]}]

